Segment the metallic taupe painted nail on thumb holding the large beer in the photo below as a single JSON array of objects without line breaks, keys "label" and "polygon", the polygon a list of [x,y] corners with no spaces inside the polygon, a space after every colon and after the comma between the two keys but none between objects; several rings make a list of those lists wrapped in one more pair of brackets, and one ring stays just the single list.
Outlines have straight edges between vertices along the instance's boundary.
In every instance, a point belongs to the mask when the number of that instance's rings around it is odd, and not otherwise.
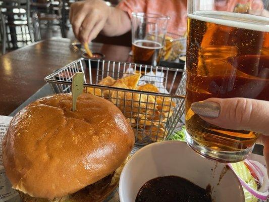
[{"label": "metallic taupe painted nail on thumb holding the large beer", "polygon": [[209,101],[196,102],[191,104],[191,110],[199,116],[217,118],[220,115],[221,106],[219,103]]}]

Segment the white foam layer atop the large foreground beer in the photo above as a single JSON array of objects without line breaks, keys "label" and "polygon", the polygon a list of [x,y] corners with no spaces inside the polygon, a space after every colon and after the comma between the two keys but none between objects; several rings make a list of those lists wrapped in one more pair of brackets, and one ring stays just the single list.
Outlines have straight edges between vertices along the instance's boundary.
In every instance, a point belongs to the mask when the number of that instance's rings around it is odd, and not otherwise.
[{"label": "white foam layer atop the large foreground beer", "polygon": [[193,14],[188,13],[188,18],[224,26],[269,32],[269,18],[263,16],[225,11],[196,11]]}]

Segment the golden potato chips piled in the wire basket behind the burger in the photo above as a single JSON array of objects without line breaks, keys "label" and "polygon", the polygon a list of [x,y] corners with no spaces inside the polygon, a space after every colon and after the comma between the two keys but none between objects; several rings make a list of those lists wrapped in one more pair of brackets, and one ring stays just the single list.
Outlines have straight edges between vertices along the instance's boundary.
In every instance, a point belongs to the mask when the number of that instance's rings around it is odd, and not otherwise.
[{"label": "golden potato chips piled in the wire basket behind the burger", "polygon": [[[114,80],[107,76],[98,84],[123,89],[135,89],[147,92],[159,92],[158,88],[150,83],[138,86],[141,74],[132,74]],[[87,92],[109,98],[123,112],[131,124],[136,138],[140,142],[160,141],[166,137],[166,122],[176,106],[171,97],[149,95],[118,90],[103,90],[87,87]],[[149,139],[150,138],[150,139]]]}]

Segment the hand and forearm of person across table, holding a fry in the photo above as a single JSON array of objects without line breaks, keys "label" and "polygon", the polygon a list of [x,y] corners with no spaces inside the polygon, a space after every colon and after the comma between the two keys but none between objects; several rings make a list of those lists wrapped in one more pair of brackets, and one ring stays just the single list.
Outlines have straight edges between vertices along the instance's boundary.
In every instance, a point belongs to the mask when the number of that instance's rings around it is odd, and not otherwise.
[{"label": "hand and forearm of person across table, holding a fry", "polygon": [[128,14],[109,7],[102,0],[86,0],[72,4],[70,23],[81,42],[89,42],[100,31],[106,36],[122,35],[131,29]]}]

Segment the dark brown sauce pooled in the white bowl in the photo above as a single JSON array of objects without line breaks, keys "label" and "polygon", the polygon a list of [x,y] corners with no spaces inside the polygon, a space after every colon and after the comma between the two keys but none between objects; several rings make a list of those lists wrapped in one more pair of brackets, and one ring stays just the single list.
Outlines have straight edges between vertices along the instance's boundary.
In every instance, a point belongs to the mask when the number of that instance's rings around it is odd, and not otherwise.
[{"label": "dark brown sauce pooled in the white bowl", "polygon": [[211,202],[210,193],[177,176],[157,177],[147,181],[138,191],[135,202]]}]

